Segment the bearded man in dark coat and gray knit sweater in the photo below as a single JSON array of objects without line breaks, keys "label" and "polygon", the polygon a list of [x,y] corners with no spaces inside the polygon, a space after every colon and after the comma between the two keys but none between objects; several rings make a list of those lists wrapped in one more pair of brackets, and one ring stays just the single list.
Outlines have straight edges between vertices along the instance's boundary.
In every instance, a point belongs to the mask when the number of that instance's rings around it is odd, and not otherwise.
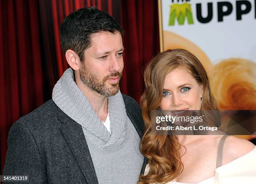
[{"label": "bearded man in dark coat and gray knit sweater", "polygon": [[29,183],[135,184],[146,159],[139,151],[141,111],[119,91],[123,30],[96,8],[71,13],[61,48],[71,68],[52,100],[13,124],[4,175]]}]

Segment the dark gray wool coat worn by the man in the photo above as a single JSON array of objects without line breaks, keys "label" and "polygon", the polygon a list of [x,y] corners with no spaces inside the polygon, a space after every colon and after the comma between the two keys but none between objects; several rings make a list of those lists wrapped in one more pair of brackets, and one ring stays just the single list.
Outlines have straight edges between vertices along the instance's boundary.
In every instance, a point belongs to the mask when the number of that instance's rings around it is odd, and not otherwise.
[{"label": "dark gray wool coat worn by the man", "polygon": [[[123,95],[123,100],[127,115],[141,137],[140,107],[131,97]],[[146,158],[141,173],[145,166]],[[13,124],[3,174],[28,175],[31,184],[98,183],[81,125],[52,100]]]}]

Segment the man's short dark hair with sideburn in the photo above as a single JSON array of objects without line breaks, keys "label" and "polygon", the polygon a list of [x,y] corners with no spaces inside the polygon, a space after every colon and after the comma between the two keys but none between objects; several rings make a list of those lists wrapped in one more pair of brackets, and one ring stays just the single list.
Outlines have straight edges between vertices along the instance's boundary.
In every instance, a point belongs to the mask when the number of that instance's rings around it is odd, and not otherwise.
[{"label": "man's short dark hair with sideburn", "polygon": [[84,61],[84,50],[90,47],[91,35],[101,31],[120,32],[123,35],[121,26],[107,12],[95,7],[76,10],[61,24],[61,49],[64,54],[68,49],[73,50]]}]

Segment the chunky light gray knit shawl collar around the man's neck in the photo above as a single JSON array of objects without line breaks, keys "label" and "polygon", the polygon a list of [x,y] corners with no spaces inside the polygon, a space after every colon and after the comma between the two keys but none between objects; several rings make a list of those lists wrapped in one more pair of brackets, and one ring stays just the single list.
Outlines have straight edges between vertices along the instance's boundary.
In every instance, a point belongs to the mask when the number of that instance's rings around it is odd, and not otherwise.
[{"label": "chunky light gray knit shawl collar around the man's neck", "polygon": [[82,125],[84,134],[100,148],[119,147],[125,141],[126,110],[120,91],[108,97],[111,135],[105,128],[89,100],[74,81],[74,72],[67,69],[55,84],[52,100],[70,118]]}]

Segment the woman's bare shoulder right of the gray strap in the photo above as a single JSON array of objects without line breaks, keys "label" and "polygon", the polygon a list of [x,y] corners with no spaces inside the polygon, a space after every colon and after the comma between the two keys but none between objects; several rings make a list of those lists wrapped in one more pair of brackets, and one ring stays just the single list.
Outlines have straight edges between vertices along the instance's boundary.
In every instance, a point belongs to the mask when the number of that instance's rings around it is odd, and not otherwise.
[{"label": "woman's bare shoulder right of the gray strap", "polygon": [[[255,145],[250,141],[235,136],[228,136],[223,146],[223,160],[225,165],[255,150]],[[256,151],[255,151],[256,154]]]}]

